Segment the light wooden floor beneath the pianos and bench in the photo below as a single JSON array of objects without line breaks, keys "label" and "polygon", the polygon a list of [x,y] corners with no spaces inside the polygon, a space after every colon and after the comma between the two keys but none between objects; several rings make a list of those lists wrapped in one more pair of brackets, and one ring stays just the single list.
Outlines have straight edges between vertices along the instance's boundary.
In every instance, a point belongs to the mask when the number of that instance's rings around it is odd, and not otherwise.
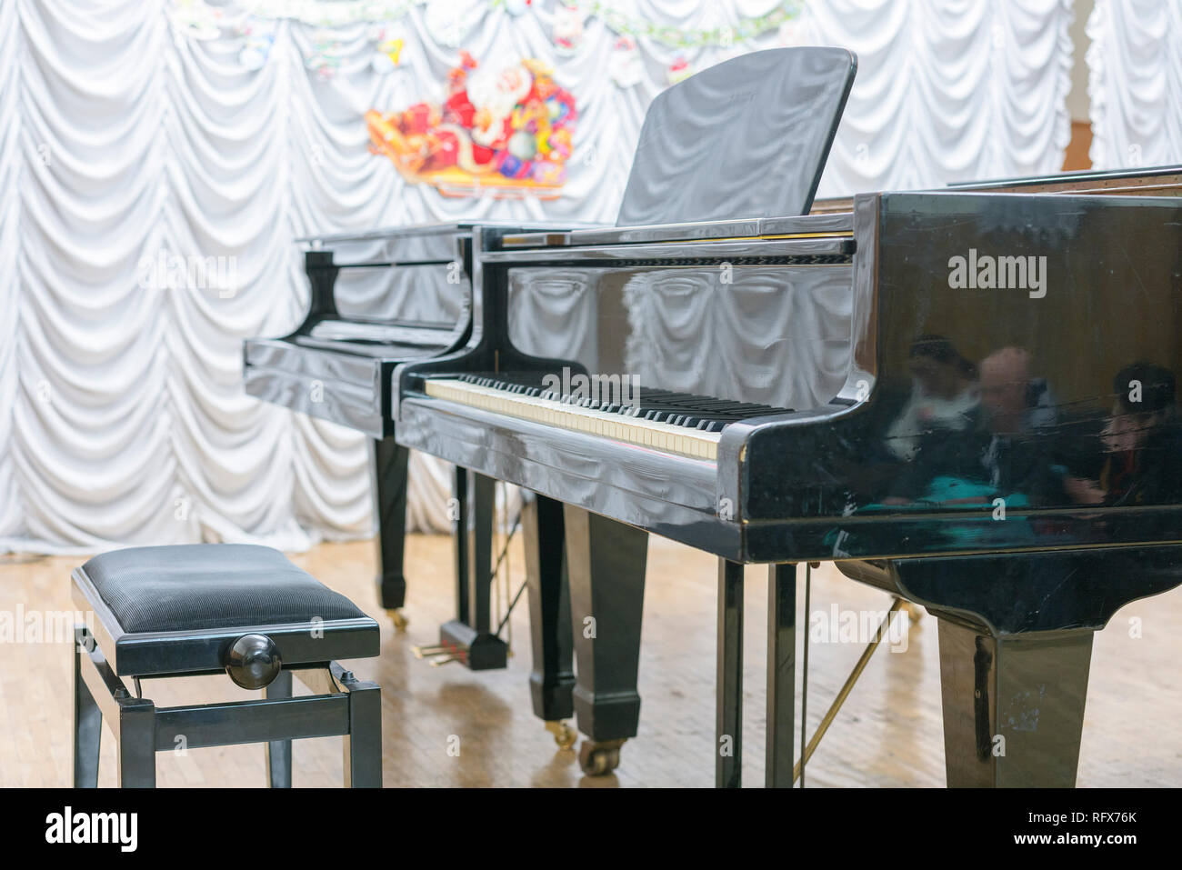
[{"label": "light wooden floor beneath the pianos and bench", "polygon": [[[500,671],[472,673],[459,664],[431,668],[413,644],[437,639],[453,616],[450,541],[408,540],[407,612],[397,634],[378,609],[370,541],[323,544],[294,561],[350,596],[382,624],[379,658],[352,663],[377,681],[383,703],[383,775],[387,786],[691,786],[713,785],[714,609],[716,563],[686,547],[651,539],[641,656],[641,729],[623,748],[621,767],[605,778],[583,777],[576,754],[559,751],[530,709],[528,617],[522,597],[511,619],[514,656]],[[78,558],[21,563],[0,557],[0,611],[71,609],[69,574]],[[511,551],[512,589],[524,578],[520,548]],[[747,572],[743,708],[743,785],[762,785],[764,651],[767,571]],[[804,584],[798,613],[803,610]],[[813,572],[812,611],[827,625],[832,608],[884,611],[889,598],[846,580],[832,565]],[[1130,636],[1139,618],[1141,637]],[[814,621],[820,621],[814,616]],[[840,623],[838,623],[840,624]],[[798,644],[803,637],[798,632]],[[817,635],[814,634],[814,637]],[[20,639],[20,638],[17,638]],[[25,638],[27,641],[27,638]],[[862,638],[814,641],[810,649],[810,733],[863,649]],[[886,644],[806,768],[808,787],[942,786],[943,742],[936,624],[923,616],[907,649]],[[1134,602],[1096,639],[1078,784],[1182,785],[1182,589]],[[69,643],[0,642],[0,785],[70,784]],[[799,663],[799,656],[798,656]],[[799,686],[799,666],[798,666]],[[306,689],[297,682],[298,692]],[[157,705],[258,696],[225,676],[144,683]],[[798,689],[799,722],[799,689]],[[449,754],[456,745],[459,754]],[[160,753],[161,786],[261,786],[261,746]],[[297,786],[340,784],[340,738],[297,741]],[[115,753],[104,729],[99,785],[115,785]]]}]

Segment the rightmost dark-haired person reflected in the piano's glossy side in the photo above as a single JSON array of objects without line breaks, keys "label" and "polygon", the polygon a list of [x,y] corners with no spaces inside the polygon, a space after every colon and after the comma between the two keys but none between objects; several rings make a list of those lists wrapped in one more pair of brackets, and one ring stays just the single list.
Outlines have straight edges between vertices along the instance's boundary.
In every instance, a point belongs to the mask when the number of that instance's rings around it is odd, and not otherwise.
[{"label": "rightmost dark-haired person reflected in the piano's glossy side", "polygon": [[1162,505],[1182,483],[1182,426],[1174,372],[1134,363],[1112,381],[1112,413],[1100,431],[1098,479],[1067,475],[1064,487],[1082,505]]}]

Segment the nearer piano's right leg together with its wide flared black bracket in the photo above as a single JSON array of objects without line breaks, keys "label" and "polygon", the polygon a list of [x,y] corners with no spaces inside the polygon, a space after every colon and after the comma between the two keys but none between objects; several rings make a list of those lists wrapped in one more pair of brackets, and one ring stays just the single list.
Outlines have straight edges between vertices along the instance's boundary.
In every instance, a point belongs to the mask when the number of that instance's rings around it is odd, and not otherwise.
[{"label": "nearer piano's right leg together with its wide flared black bracket", "polygon": [[1071,787],[1092,638],[1182,584],[1182,545],[838,563],[940,623],[949,786]]}]

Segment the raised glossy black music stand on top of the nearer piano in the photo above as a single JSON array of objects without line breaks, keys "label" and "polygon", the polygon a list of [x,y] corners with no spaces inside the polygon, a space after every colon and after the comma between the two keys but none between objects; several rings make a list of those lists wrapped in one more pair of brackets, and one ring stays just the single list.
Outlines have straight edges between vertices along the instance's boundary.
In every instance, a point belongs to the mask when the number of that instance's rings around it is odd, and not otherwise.
[{"label": "raised glossy black music stand on top of the nearer piano", "polygon": [[771,48],[664,91],[616,225],[807,214],[856,70],[845,48]]}]

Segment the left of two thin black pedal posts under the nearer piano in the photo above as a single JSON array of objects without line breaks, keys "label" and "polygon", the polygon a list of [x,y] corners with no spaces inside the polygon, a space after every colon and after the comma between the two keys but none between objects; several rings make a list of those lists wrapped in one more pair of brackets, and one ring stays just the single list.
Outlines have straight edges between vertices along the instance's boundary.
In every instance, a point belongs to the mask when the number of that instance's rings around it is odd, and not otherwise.
[{"label": "left of two thin black pedal posts under the nearer piano", "polygon": [[742,565],[719,559],[714,785],[742,783]]}]

